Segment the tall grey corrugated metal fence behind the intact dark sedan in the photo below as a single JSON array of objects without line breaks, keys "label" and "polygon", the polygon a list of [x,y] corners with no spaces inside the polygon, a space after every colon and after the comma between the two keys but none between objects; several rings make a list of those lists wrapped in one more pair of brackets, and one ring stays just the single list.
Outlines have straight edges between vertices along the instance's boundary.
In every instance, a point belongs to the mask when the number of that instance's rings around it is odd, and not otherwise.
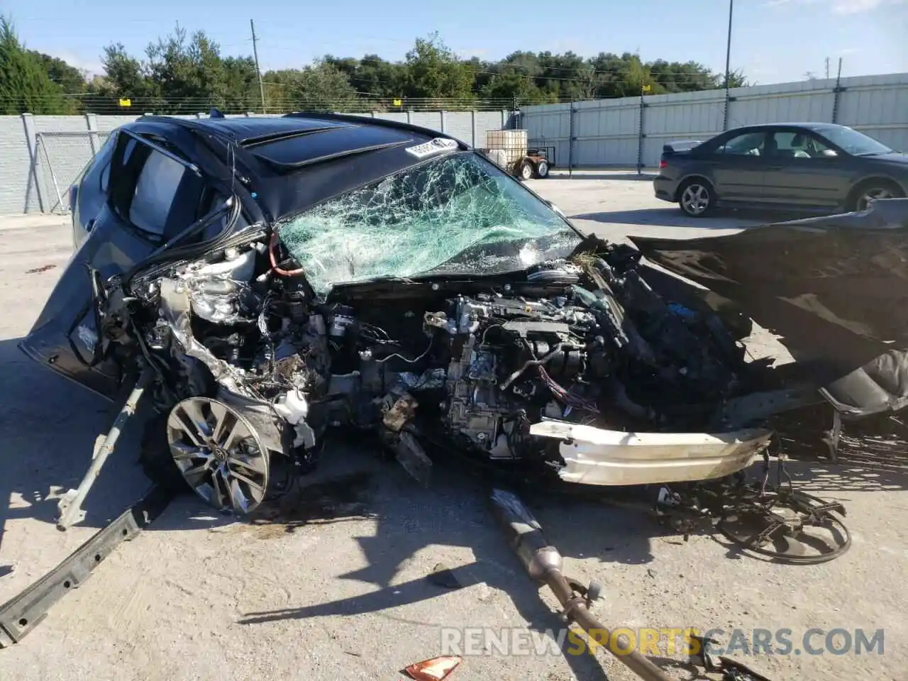
[{"label": "tall grey corrugated metal fence behind the intact dark sedan", "polygon": [[[728,127],[834,122],[908,151],[908,74],[843,78],[837,102],[835,87],[829,79],[735,88],[729,93]],[[568,167],[572,151],[574,167],[636,167],[638,161],[652,167],[664,143],[711,137],[723,131],[724,119],[724,90],[522,109],[530,146],[554,147],[561,168]]]}]

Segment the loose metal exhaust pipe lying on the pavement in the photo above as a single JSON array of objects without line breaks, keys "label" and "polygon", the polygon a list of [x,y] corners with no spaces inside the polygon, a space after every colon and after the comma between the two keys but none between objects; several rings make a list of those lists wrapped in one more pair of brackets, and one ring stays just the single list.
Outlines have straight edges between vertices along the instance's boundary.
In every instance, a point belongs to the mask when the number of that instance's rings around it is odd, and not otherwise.
[{"label": "loose metal exhaust pipe lying on the pavement", "polygon": [[[611,630],[589,611],[587,596],[577,593],[576,587],[562,574],[564,559],[558,553],[558,548],[548,543],[538,521],[517,495],[495,489],[491,500],[495,516],[508,535],[508,543],[527,569],[529,577],[551,589],[564,608],[563,614],[568,622],[576,622],[577,626],[587,632],[587,636],[595,638],[605,633],[610,637]],[[637,650],[618,655],[611,646],[606,647],[640,678],[646,681],[670,681],[665,672]],[[621,643],[621,647],[627,650],[627,640]]]}]

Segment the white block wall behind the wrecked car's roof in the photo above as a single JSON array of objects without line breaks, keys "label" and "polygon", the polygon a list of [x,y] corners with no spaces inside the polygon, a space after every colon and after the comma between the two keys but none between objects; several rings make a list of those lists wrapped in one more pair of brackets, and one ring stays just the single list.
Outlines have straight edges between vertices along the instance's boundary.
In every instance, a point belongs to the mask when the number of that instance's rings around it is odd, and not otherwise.
[{"label": "white block wall behind the wrecked car's roof", "polygon": [[[448,133],[476,147],[485,146],[489,130],[500,130],[513,122],[508,111],[372,115],[410,121],[414,125]],[[0,215],[68,210],[66,190],[69,184],[82,172],[111,131],[136,118],[134,115],[94,114],[0,116]],[[32,153],[37,157],[34,165]]]}]

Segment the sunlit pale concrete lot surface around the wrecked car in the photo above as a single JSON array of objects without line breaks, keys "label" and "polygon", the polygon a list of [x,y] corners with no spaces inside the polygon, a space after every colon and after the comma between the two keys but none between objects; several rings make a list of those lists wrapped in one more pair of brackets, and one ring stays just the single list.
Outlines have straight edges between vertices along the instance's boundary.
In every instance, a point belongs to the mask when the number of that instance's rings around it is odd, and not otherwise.
[{"label": "sunlit pale concrete lot surface around the wrecked car", "polygon": [[[686,218],[634,173],[529,183],[582,230],[699,237],[760,222]],[[56,496],[73,487],[118,405],[58,378],[16,349],[71,252],[65,219],[0,218],[0,601],[140,496],[141,424],[90,495],[84,527],[54,528]],[[908,492],[904,459],[823,459],[793,466],[806,491],[841,500],[854,546],[819,566],[735,554],[716,539],[685,542],[643,514],[591,501],[528,498],[566,571],[605,586],[598,614],[618,627],[884,629],[883,653],[749,656],[774,681],[904,679],[908,669]],[[884,465],[883,465],[884,464]],[[439,564],[461,588],[428,581]],[[441,654],[445,627],[561,626],[489,513],[481,479],[443,469],[422,489],[356,442],[332,442],[308,486],[257,523],[212,517],[179,498],[123,544],[25,640],[0,650],[0,679],[218,681],[395,679]],[[725,642],[725,641],[724,641]],[[814,645],[822,644],[816,638]],[[526,651],[525,651],[526,652]],[[671,671],[694,678],[689,670]],[[603,651],[467,656],[451,679],[634,679]]]}]

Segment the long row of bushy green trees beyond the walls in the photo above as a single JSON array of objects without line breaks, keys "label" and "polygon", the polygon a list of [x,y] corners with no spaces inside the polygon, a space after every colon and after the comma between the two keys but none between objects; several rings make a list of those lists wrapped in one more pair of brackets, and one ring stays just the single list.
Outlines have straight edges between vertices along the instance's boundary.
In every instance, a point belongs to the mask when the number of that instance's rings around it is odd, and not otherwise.
[{"label": "long row of bushy green trees beyond the walls", "polygon": [[[173,35],[150,44],[145,60],[127,54],[122,44],[104,50],[103,78],[85,84],[86,109],[120,111],[129,98],[143,111],[193,114],[217,106],[225,113],[259,111],[255,64],[248,55],[224,57],[203,31],[188,36],[179,25]],[[77,70],[60,60],[42,59],[45,71],[66,87],[78,87]],[[57,63],[60,62],[60,63]],[[490,62],[459,59],[438,34],[418,38],[406,58],[390,62],[378,54],[360,59],[331,54],[301,68],[263,76],[267,111],[300,109],[363,111],[403,106],[441,108],[546,104],[592,98],[638,96],[641,91],[693,92],[724,86],[724,74],[693,61],[644,62],[637,54],[602,52],[583,57],[518,51]],[[732,87],[747,84],[731,75]],[[408,99],[410,102],[408,102]],[[99,108],[100,107],[100,108]]]}]

